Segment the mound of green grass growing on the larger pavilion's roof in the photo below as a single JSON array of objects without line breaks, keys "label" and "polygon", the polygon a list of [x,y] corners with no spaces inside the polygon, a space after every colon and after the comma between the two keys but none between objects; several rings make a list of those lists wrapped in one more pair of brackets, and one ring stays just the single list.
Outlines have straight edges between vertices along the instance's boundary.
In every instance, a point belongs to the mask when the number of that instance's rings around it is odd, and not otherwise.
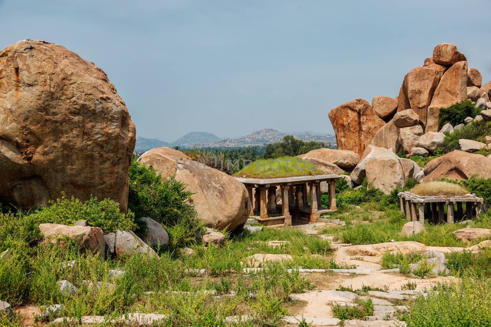
[{"label": "mound of green grass growing on the larger pavilion's roof", "polygon": [[259,159],[244,167],[233,176],[247,178],[277,178],[324,175],[322,170],[306,160],[283,156],[276,159]]}]

